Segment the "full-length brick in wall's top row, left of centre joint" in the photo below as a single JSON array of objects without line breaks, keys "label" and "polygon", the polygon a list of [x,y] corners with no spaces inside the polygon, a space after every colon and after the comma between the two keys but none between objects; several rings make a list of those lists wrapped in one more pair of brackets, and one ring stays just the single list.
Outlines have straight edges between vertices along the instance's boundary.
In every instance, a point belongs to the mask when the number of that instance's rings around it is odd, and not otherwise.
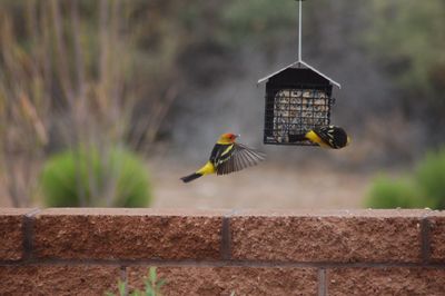
[{"label": "full-length brick in wall's top row, left of centre joint", "polygon": [[218,259],[221,221],[221,211],[48,209],[36,216],[36,257]]}]

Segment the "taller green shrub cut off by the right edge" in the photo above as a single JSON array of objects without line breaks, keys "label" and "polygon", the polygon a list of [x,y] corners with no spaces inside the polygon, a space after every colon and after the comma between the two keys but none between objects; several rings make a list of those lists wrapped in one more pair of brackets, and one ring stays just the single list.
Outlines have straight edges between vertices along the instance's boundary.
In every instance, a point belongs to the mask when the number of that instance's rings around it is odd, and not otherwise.
[{"label": "taller green shrub cut off by the right edge", "polygon": [[445,148],[427,154],[414,174],[432,207],[445,209]]}]

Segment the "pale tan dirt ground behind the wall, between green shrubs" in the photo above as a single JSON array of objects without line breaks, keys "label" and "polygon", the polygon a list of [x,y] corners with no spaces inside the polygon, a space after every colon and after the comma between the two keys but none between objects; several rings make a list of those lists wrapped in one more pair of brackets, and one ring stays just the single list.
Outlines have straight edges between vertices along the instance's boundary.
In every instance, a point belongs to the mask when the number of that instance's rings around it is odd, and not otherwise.
[{"label": "pale tan dirt ground behind the wall, between green shrubs", "polygon": [[[265,162],[236,174],[184,184],[179,178],[196,167],[151,159],[148,168],[155,208],[359,208],[374,176],[332,166],[300,168]],[[0,207],[10,206],[2,194]]]}]

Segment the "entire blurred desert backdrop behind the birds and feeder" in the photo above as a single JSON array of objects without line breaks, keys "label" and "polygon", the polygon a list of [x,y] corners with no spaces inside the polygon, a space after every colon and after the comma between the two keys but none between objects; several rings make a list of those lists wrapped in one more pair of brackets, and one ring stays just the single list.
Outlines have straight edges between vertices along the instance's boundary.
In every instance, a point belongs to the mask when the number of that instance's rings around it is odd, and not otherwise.
[{"label": "entire blurred desert backdrop behind the birds and feeder", "polygon": [[[445,2],[309,0],[343,150],[263,145],[291,0],[0,0],[0,206],[445,208]],[[221,132],[265,162],[191,184]]]}]

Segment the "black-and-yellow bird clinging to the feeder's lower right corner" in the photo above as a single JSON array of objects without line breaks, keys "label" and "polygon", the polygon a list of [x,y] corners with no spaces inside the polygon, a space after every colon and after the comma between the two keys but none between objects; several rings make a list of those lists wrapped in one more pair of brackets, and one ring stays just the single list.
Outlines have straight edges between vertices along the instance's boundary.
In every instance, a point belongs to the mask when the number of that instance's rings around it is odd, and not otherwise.
[{"label": "black-and-yellow bird clinging to the feeder's lower right corner", "polygon": [[318,127],[306,132],[305,138],[320,147],[340,149],[350,142],[346,131],[336,126]]}]

